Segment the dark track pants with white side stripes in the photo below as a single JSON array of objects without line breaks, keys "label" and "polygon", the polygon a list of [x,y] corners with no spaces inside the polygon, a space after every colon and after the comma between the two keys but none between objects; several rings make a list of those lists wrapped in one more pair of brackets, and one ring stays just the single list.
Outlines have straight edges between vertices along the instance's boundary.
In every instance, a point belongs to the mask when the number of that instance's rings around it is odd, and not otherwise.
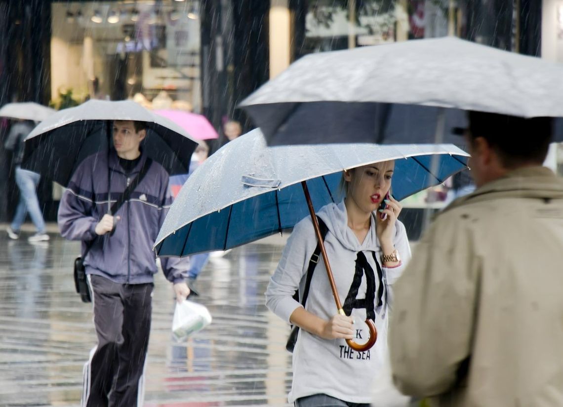
[{"label": "dark track pants with white side stripes", "polygon": [[153,284],[91,275],[98,344],[84,364],[82,407],[138,407],[144,399]]}]

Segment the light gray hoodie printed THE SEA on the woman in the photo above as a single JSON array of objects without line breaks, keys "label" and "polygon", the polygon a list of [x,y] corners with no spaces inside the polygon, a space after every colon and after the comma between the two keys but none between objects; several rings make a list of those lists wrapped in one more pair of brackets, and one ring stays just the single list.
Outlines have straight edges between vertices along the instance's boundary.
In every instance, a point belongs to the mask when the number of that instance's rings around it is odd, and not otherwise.
[{"label": "light gray hoodie printed THE SEA on the woman", "polygon": [[[372,309],[378,336],[376,345],[371,350],[359,353],[351,350],[344,339],[322,339],[301,329],[293,351],[293,383],[288,399],[293,403],[300,397],[324,393],[348,402],[369,403],[372,401],[374,378],[387,364],[387,300],[390,285],[399,278],[405,263],[410,258],[405,227],[400,221],[395,223],[394,244],[403,263],[392,269],[382,267],[382,281],[386,289],[382,304],[379,304],[377,295],[379,279],[372,252],[381,265],[381,248],[376,236],[374,220],[365,240],[360,243],[348,227],[344,202],[326,205],[318,212],[318,216],[328,226],[325,247],[343,305],[348,292],[352,289],[359,252],[363,253],[369,267],[373,270],[376,285],[372,289],[376,295]],[[303,293],[309,259],[315,246],[316,238],[312,222],[307,217],[294,227],[282,253],[282,259],[266,290],[267,307],[288,323],[292,312],[301,306],[292,296],[297,288],[300,289],[300,294]],[[358,299],[366,297],[368,289],[366,269],[367,267],[364,268],[358,294],[355,297]],[[316,265],[305,308],[326,320],[337,314],[323,261]],[[346,307],[344,308],[346,311]],[[366,308],[371,306],[368,304]],[[356,332],[356,335],[362,338],[357,337],[358,343],[365,343],[367,340],[367,327],[363,322],[367,316],[366,308],[351,310],[351,315],[356,320],[355,328],[361,330]],[[385,372],[388,375],[387,369]],[[385,379],[386,383],[390,383],[390,378]]]}]

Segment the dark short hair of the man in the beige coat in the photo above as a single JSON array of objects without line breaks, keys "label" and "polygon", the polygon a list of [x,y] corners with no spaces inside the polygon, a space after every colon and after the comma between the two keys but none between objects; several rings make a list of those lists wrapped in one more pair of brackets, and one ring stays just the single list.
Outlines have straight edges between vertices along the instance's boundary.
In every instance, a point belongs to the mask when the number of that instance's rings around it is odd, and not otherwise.
[{"label": "dark short hair of the man in the beige coat", "polygon": [[553,131],[551,117],[523,117],[469,112],[469,137],[483,137],[506,168],[522,164],[541,165],[547,156]]}]

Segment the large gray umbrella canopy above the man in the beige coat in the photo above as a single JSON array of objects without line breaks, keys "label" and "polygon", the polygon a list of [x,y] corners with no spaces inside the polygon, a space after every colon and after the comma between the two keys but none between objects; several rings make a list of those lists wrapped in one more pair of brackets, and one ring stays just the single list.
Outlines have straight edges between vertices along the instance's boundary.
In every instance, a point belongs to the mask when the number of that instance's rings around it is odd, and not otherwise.
[{"label": "large gray umbrella canopy above the man in the beige coat", "polygon": [[240,106],[270,145],[452,141],[465,110],[563,117],[562,77],[555,62],[422,39],[307,55]]}]

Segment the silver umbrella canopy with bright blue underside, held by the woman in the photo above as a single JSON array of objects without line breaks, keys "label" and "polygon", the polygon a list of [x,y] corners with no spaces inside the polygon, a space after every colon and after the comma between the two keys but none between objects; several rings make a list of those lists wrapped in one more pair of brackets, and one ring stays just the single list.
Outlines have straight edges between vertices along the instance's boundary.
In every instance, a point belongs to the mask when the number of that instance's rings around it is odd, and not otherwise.
[{"label": "silver umbrella canopy with bright blue underside, held by the woman", "polygon": [[309,214],[303,180],[319,209],[338,202],[344,169],[395,159],[393,195],[403,199],[467,168],[467,156],[453,145],[268,148],[255,129],[194,171],[168,212],[155,249],[159,256],[225,250],[293,227]]}]

